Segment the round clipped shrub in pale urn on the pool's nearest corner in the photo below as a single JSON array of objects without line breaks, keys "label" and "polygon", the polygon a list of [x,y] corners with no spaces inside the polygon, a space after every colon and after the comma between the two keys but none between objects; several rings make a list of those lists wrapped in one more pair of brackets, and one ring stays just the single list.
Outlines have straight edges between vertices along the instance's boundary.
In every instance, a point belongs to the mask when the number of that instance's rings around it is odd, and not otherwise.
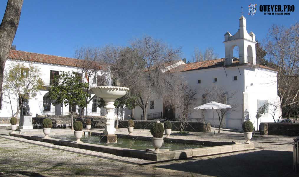
[{"label": "round clipped shrub in pale urn on the pool's nearest corner", "polygon": [[150,129],[150,133],[152,134],[152,146],[155,148],[153,153],[161,153],[159,150],[163,144],[163,132],[164,127],[162,123],[153,123]]}]

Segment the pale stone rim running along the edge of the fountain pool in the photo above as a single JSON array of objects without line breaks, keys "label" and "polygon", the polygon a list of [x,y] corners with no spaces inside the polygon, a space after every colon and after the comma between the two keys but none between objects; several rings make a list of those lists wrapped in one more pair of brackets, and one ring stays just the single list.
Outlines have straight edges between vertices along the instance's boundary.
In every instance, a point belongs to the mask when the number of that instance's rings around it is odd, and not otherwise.
[{"label": "pale stone rim running along the edge of the fountain pool", "polygon": [[[206,156],[206,155],[217,155],[222,153],[254,149],[254,144],[232,142],[230,145],[175,150],[175,151],[164,152],[161,154],[154,154],[143,150],[127,149],[127,148],[120,148],[120,147],[109,147],[109,146],[89,144],[89,143],[74,143],[73,141],[66,141],[66,140],[60,140],[55,138],[42,138],[40,136],[34,136],[34,135],[24,135],[24,134],[15,134],[15,133],[10,133],[10,135],[19,138],[34,140],[34,141],[42,141],[42,142],[52,143],[52,144],[57,144],[62,146],[75,147],[75,148],[92,150],[97,152],[105,152],[105,153],[110,153],[110,154],[120,155],[125,157],[141,158],[150,161],[177,160],[183,158]],[[179,139],[172,139],[172,140],[179,140]],[[195,141],[195,140],[191,140],[191,141]],[[213,142],[213,141],[205,141],[205,142]]]}]

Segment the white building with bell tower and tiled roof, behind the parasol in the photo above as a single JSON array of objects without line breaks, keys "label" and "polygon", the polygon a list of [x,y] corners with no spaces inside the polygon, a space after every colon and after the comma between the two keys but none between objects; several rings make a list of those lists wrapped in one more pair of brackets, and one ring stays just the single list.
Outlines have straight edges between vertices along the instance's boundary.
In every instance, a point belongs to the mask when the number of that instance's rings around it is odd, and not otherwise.
[{"label": "white building with bell tower and tiled roof, behind the parasol", "polygon": [[[237,91],[236,97],[231,102],[239,106],[225,115],[222,123],[223,128],[242,129],[245,118],[250,118],[257,129],[257,109],[265,103],[279,103],[277,95],[277,71],[266,66],[259,65],[255,53],[255,35],[248,34],[246,30],[246,19],[241,16],[239,19],[239,29],[233,36],[227,32],[224,35],[225,58],[214,59],[203,62],[182,64],[178,63],[170,71],[175,75],[183,77],[191,88],[197,91],[197,105],[202,104],[203,88],[224,87],[227,91]],[[234,48],[239,48],[239,56],[234,56]],[[224,93],[225,94],[225,93]],[[176,111],[164,108],[163,100],[153,97],[150,101],[147,112],[155,115],[163,112],[164,117],[177,117]],[[229,105],[229,101],[227,102]],[[274,122],[270,113],[274,109],[271,106],[265,111],[258,123]],[[135,108],[134,118],[141,119],[142,110]],[[280,110],[276,110],[275,119],[278,119]],[[213,120],[211,110],[199,110],[192,113],[190,121],[210,121]],[[215,125],[219,125],[216,117]]]}]

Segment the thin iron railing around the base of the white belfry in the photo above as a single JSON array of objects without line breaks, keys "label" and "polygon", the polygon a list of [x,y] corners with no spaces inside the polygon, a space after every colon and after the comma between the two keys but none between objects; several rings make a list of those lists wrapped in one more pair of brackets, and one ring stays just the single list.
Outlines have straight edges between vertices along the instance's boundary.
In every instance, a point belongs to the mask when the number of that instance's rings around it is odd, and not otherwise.
[{"label": "thin iron railing around the base of the white belfry", "polygon": [[240,64],[260,65],[260,62],[258,59],[246,55],[240,57],[225,58],[224,60],[224,66],[233,66]]}]

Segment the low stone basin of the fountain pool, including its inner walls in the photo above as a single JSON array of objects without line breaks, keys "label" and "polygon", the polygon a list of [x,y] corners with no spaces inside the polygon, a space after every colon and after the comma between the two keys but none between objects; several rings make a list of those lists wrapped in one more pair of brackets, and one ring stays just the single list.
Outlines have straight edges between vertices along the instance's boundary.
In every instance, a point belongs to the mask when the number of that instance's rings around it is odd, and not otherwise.
[{"label": "low stone basin of the fountain pool, including its inner walls", "polygon": [[[223,153],[230,153],[230,152],[237,152],[237,151],[244,151],[254,149],[254,144],[245,144],[245,143],[236,143],[236,142],[215,142],[215,141],[197,141],[197,140],[184,140],[184,139],[174,139],[174,138],[165,138],[165,142],[172,142],[172,143],[196,143],[210,147],[201,147],[201,148],[190,148],[190,149],[180,149],[180,150],[171,150],[167,152],[163,152],[160,154],[151,153],[145,150],[136,150],[130,149],[130,147],[121,148],[121,147],[110,147],[109,145],[103,146],[101,144],[91,144],[91,143],[74,143],[73,141],[61,140],[53,138],[42,138],[39,136],[34,135],[24,135],[24,134],[10,134],[11,136],[26,138],[29,140],[35,141],[42,141],[47,143],[53,143],[56,145],[63,145],[69,147],[76,147],[80,149],[98,151],[98,152],[105,152],[120,156],[132,157],[132,158],[141,158],[150,161],[167,161],[167,160],[176,160],[176,159],[184,159],[190,157],[197,157],[197,156],[206,156],[206,155],[216,155],[216,154],[223,154]],[[92,135],[102,135],[102,133],[92,133]],[[131,136],[131,135],[122,135],[119,134],[122,138],[132,138],[136,140],[145,140],[149,141],[151,137],[143,137],[143,136]],[[151,146],[152,147],[152,146]],[[151,148],[150,147],[150,148]],[[148,148],[148,147],[144,147]]]}]

